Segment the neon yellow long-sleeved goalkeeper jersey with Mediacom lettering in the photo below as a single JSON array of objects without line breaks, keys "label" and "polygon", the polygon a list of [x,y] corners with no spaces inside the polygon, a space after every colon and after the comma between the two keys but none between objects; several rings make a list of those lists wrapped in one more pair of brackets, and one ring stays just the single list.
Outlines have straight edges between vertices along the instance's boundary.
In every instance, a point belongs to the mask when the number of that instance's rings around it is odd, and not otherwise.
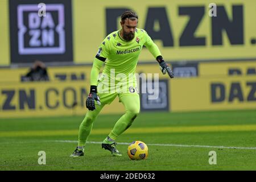
[{"label": "neon yellow long-sleeved goalkeeper jersey with Mediacom lettering", "polygon": [[[147,47],[154,59],[161,55],[146,31],[137,28],[134,39],[130,41],[123,40],[119,31],[106,36],[93,62],[90,85],[97,85],[98,91],[102,93],[108,93],[109,90],[115,93],[129,93],[137,89],[135,69],[143,46]],[[105,68],[98,80],[104,62]]]}]

